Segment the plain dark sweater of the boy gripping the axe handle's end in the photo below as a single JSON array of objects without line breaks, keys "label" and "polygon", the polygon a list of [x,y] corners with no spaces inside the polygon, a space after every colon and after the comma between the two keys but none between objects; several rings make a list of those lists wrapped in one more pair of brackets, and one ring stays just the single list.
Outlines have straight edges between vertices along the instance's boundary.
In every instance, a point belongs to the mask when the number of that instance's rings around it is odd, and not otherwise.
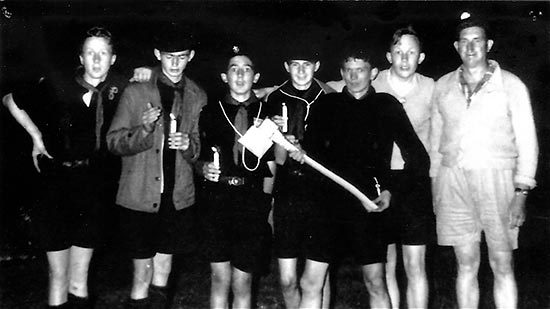
[{"label": "plain dark sweater of the boy gripping the axe handle's end", "polygon": [[[370,88],[355,99],[346,88],[312,107],[303,147],[314,159],[374,198],[374,177],[391,192],[393,143],[402,151],[405,171],[427,176],[430,160],[397,99]],[[330,184],[332,186],[332,184]]]}]

